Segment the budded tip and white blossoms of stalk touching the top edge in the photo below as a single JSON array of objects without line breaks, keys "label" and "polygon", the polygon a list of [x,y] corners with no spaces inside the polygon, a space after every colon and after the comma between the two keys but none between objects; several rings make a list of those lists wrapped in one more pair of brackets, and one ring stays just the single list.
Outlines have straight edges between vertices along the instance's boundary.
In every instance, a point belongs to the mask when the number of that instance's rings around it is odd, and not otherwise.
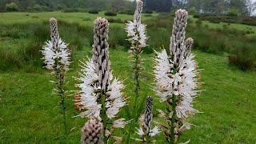
[{"label": "budded tip and white blossoms of stalk touching the top edge", "polygon": [[[136,45],[142,48],[146,46],[146,25],[142,24],[141,16],[142,16],[142,7],[143,2],[141,0],[137,1],[137,7],[134,13],[134,22],[129,21],[126,26],[128,40],[131,44]],[[131,47],[133,49],[135,47]]]}]

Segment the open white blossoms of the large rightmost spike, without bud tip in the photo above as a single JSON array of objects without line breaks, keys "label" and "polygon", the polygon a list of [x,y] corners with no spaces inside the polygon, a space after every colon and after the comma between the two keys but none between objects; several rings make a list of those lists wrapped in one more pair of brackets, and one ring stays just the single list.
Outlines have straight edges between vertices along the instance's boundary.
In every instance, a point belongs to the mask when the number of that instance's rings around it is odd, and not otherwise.
[{"label": "open white blossoms of the large rightmost spike, without bud tip", "polygon": [[156,66],[154,66],[154,88],[156,94],[161,98],[161,102],[166,102],[172,94],[179,97],[180,101],[176,106],[178,118],[187,118],[189,115],[195,114],[192,106],[193,98],[198,94],[197,84],[197,63],[192,59],[193,54],[190,54],[182,64],[176,74],[173,74],[172,69],[174,63],[168,58],[166,50],[161,53],[156,52],[157,57],[154,58]]}]

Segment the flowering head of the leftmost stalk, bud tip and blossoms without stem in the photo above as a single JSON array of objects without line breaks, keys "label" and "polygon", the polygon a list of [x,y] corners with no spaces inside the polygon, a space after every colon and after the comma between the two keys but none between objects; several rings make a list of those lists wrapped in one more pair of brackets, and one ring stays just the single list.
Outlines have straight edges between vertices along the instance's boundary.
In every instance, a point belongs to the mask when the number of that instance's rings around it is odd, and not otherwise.
[{"label": "flowering head of the leftmost stalk, bud tip and blossoms without stem", "polygon": [[52,74],[57,72],[66,73],[70,66],[70,50],[65,42],[58,35],[58,23],[55,18],[50,18],[51,41],[47,41],[43,46],[42,55],[46,68],[52,70]]}]

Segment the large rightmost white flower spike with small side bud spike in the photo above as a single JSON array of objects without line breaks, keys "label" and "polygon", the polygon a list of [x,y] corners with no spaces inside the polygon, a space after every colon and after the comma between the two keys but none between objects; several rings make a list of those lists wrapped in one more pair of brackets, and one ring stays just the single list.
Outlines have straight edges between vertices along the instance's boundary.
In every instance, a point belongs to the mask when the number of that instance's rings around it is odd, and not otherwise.
[{"label": "large rightmost white flower spike with small side bud spike", "polygon": [[166,103],[166,110],[158,110],[159,118],[166,123],[160,123],[166,140],[177,143],[178,136],[190,129],[186,118],[198,110],[193,108],[197,97],[199,73],[194,54],[190,53],[193,39],[186,38],[186,10],[177,10],[174,18],[172,37],[170,38],[170,55],[166,50],[155,52],[154,58],[154,91],[160,97],[160,102]]}]

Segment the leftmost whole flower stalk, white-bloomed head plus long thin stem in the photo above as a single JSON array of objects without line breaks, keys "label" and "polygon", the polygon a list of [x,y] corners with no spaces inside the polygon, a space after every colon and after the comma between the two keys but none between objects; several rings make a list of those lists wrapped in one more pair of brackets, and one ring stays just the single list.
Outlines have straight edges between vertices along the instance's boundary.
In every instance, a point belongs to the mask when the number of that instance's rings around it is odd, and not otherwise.
[{"label": "leftmost whole flower stalk, white-bloomed head plus long thin stem", "polygon": [[55,18],[50,18],[50,41],[47,41],[43,46],[42,55],[46,68],[51,70],[56,78],[56,82],[53,82],[58,89],[54,89],[54,94],[60,97],[59,105],[62,109],[63,125],[65,131],[65,138],[68,135],[66,126],[66,72],[70,66],[70,50],[68,50],[66,42],[63,42],[58,34],[58,22]]}]

